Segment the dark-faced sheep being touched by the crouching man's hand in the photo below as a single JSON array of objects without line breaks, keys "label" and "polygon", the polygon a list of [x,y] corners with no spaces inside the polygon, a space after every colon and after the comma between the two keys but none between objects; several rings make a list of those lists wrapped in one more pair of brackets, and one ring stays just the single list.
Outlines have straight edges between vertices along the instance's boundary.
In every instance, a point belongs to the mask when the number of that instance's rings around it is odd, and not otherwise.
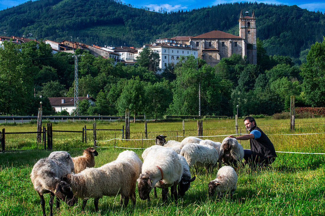
[{"label": "dark-faced sheep being touched by the crouching man's hand", "polygon": [[220,147],[219,164],[224,162],[226,165],[232,165],[237,168],[237,163],[244,157],[244,149],[237,142],[236,138],[225,138]]}]

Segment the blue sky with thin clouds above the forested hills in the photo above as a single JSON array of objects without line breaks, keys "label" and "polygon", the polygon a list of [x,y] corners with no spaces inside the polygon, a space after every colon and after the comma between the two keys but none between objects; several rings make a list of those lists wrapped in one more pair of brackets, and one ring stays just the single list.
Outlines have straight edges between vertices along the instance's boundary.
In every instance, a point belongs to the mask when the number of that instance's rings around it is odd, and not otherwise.
[{"label": "blue sky with thin clouds above the forested hills", "polygon": [[[0,10],[6,9],[7,7],[12,7],[19,5],[21,3],[26,2],[26,0],[0,0]],[[223,4],[223,3],[233,3],[238,2],[238,0],[208,0],[204,1],[204,3],[201,0],[162,0],[162,1],[154,1],[154,0],[122,0],[123,3],[131,4],[135,7],[140,8],[143,7],[149,7],[150,10],[155,9],[158,11],[158,9],[162,8],[166,11],[171,10],[189,10],[192,8],[200,8],[204,6],[212,6],[217,4]],[[159,2],[159,3],[157,3]],[[263,2],[268,4],[284,4],[284,5],[297,5],[301,8],[306,8],[310,11],[321,11],[325,12],[325,1],[324,0],[266,0],[266,1],[257,1],[257,2]]]}]

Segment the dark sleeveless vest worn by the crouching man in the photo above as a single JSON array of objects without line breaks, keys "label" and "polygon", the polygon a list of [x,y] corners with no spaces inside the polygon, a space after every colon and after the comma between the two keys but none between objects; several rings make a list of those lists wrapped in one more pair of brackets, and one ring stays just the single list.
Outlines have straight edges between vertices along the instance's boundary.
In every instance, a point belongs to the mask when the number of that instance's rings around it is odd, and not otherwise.
[{"label": "dark sleeveless vest worn by the crouching man", "polygon": [[261,160],[267,157],[277,157],[275,149],[271,140],[266,136],[266,134],[257,126],[252,128],[253,130],[258,130],[261,132],[261,137],[257,139],[250,139],[249,143],[251,145],[252,153],[259,157]]}]

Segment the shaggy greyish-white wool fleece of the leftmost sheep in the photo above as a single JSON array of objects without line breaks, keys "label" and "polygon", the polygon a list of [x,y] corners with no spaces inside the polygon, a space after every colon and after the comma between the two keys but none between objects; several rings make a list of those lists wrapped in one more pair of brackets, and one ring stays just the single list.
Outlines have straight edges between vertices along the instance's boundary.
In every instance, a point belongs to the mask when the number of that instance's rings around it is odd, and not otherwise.
[{"label": "shaggy greyish-white wool fleece of the leftmost sheep", "polygon": [[31,180],[35,190],[43,195],[54,193],[63,175],[74,171],[71,156],[66,151],[54,151],[47,158],[37,161],[32,169]]}]

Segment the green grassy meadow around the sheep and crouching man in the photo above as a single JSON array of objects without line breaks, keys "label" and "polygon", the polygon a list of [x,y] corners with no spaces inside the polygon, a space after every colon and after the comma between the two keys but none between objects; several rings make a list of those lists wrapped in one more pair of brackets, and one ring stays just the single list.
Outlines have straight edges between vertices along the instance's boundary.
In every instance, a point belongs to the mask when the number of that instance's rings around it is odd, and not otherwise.
[{"label": "green grassy meadow around the sheep and crouching man", "polygon": [[[257,125],[273,142],[277,151],[325,152],[325,134],[283,135],[289,132],[289,120],[256,119]],[[325,118],[296,119],[295,134],[325,133]],[[92,122],[53,123],[53,130],[78,130],[86,125],[92,128]],[[122,129],[123,122],[97,122],[97,129]],[[243,127],[243,119],[239,120],[239,131]],[[43,123],[44,125],[44,123]],[[235,133],[233,119],[203,120],[203,136],[229,135]],[[36,124],[0,125],[6,132],[36,131]],[[185,121],[185,136],[197,135],[197,122]],[[116,132],[116,135],[115,135]],[[130,138],[144,138],[144,122],[130,123]],[[182,121],[148,122],[148,138],[157,135],[167,136],[166,140],[177,140],[182,136]],[[282,134],[282,135],[281,135]],[[97,140],[122,138],[120,131],[97,131]],[[53,132],[53,151],[67,150],[72,157],[82,154],[82,149],[93,146],[92,131],[87,131],[87,144],[82,142],[81,133],[68,134]],[[226,136],[207,137],[221,142]],[[36,144],[36,135],[6,135],[6,150],[0,153],[0,215],[42,215],[40,198],[33,189],[29,175],[37,160],[47,157],[50,152],[42,150],[44,145]],[[204,138],[203,138],[204,139]],[[182,137],[178,137],[182,140]],[[154,140],[109,141],[98,142],[100,147],[147,148]],[[248,141],[241,141],[244,148],[249,148]],[[97,148],[95,167],[116,159],[124,149]],[[134,150],[141,158],[141,149]],[[99,199],[100,212],[94,212],[93,199],[88,200],[86,211],[81,212],[82,202],[74,207],[62,204],[54,215],[325,215],[325,155],[277,153],[278,157],[270,169],[250,170],[248,167],[238,171],[237,190],[234,199],[207,199],[207,185],[216,176],[217,169],[208,175],[205,172],[195,173],[197,179],[183,198],[169,200],[161,205],[161,190],[158,199],[151,202],[138,198],[136,191],[136,207],[131,203],[127,208],[119,205],[119,196]],[[49,195],[45,195],[46,213]]]}]

